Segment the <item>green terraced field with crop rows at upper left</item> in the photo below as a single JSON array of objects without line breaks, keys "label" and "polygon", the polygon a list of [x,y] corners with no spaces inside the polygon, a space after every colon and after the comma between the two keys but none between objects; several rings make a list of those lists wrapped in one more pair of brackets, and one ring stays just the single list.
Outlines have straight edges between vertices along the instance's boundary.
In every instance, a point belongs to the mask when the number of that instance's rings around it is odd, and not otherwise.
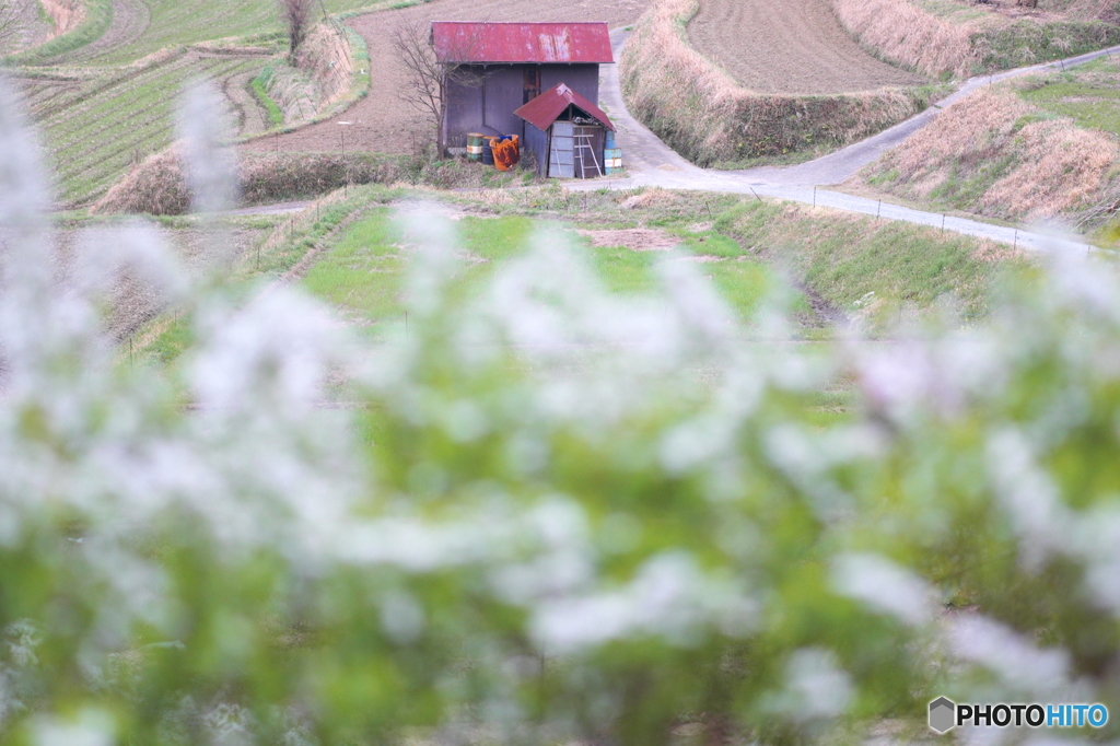
[{"label": "green terraced field with crop rows at upper left", "polygon": [[[371,1],[323,0],[314,20]],[[268,128],[248,88],[283,47],[276,0],[111,0],[111,7],[108,29],[90,44],[6,71],[54,161],[59,205],[90,202],[131,164],[166,148],[175,104],[193,77],[208,77],[225,93],[236,134]],[[204,43],[213,41],[237,54],[211,54],[218,45]]]}]

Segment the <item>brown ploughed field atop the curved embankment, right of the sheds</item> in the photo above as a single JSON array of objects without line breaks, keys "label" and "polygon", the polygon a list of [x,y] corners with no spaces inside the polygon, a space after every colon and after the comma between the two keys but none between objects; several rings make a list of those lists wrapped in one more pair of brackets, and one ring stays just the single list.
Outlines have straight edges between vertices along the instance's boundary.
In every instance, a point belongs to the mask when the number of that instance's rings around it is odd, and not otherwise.
[{"label": "brown ploughed field atop the curved embankment, right of the sheds", "polygon": [[922,85],[844,31],[829,0],[701,0],[689,40],[756,93],[814,95]]}]

